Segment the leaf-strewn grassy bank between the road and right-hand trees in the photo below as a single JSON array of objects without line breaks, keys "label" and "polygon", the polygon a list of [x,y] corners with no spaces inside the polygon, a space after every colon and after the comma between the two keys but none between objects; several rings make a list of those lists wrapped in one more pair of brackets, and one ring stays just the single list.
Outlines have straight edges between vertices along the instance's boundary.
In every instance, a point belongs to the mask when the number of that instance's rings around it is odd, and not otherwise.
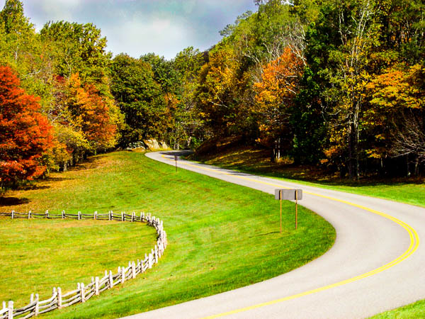
[{"label": "leaf-strewn grassy bank between the road and right-hand trees", "polygon": [[295,166],[290,164],[289,160],[285,162],[285,159],[280,163],[273,163],[266,151],[255,150],[252,147],[230,147],[214,155],[191,155],[190,158],[239,172],[425,207],[425,181],[423,178],[368,178],[352,181],[341,179],[335,174],[314,166]]}]

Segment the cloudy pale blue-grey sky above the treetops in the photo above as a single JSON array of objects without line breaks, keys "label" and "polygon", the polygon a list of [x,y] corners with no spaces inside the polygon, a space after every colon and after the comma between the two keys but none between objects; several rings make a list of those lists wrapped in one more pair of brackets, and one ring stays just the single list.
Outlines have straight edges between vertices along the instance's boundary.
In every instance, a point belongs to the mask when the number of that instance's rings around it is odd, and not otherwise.
[{"label": "cloudy pale blue-grey sky above the treetops", "polygon": [[[256,11],[254,0],[21,0],[36,30],[47,21],[94,23],[108,51],[172,59],[185,47],[215,45],[237,16]],[[3,8],[6,0],[0,0]]]}]

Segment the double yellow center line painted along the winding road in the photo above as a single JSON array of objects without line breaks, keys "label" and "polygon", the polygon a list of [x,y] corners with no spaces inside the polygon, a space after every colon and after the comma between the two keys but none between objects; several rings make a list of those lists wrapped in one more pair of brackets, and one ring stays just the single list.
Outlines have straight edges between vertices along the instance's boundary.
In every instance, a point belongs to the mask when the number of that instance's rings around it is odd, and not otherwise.
[{"label": "double yellow center line painted along the winding road", "polygon": [[[164,159],[168,159],[164,155],[162,155],[162,157]],[[171,159],[168,159],[168,160],[171,160]],[[261,181],[261,180],[252,179],[252,178],[249,178],[249,177],[242,177],[242,176],[239,176],[239,175],[234,175],[234,174],[230,174],[230,173],[227,173],[227,172],[218,171],[217,169],[210,169],[210,168],[207,168],[207,167],[201,167],[201,166],[195,165],[195,164],[188,164],[188,163],[183,163],[183,162],[180,162],[180,163],[181,164],[184,164],[186,166],[196,167],[198,169],[203,169],[205,171],[215,172],[217,174],[229,175],[229,176],[232,176],[232,177],[237,177],[238,179],[245,179],[246,181],[254,181],[254,182],[259,183],[259,184],[265,184],[265,185],[275,186],[275,187],[279,187],[279,188],[286,188],[286,187],[281,186],[279,184],[273,184],[273,183],[270,183],[268,181]],[[220,317],[224,317],[225,315],[232,315],[232,314],[235,314],[235,313],[242,313],[242,312],[247,311],[247,310],[253,310],[253,309],[261,308],[261,307],[264,307],[264,306],[270,306],[270,305],[273,305],[273,304],[276,304],[276,303],[281,303],[283,301],[288,301],[288,300],[299,298],[299,297],[302,297],[302,296],[307,296],[307,295],[310,295],[312,293],[317,293],[319,291],[324,291],[324,290],[331,289],[331,288],[334,288],[334,287],[337,287],[337,286],[342,286],[342,285],[345,285],[345,284],[349,284],[349,283],[351,283],[353,281],[358,281],[360,279],[366,278],[368,276],[372,276],[374,274],[378,274],[380,272],[383,272],[386,269],[389,269],[391,267],[394,267],[396,264],[399,264],[400,262],[402,262],[405,259],[407,259],[408,257],[410,257],[418,249],[418,247],[419,247],[419,235],[416,233],[416,230],[414,230],[414,228],[412,228],[412,226],[408,225],[407,223],[404,223],[404,221],[399,220],[398,218],[395,218],[394,216],[390,216],[390,215],[388,215],[386,213],[382,213],[380,211],[375,211],[374,209],[371,209],[371,208],[368,208],[368,207],[365,207],[365,206],[361,206],[361,205],[358,205],[356,203],[351,203],[349,201],[344,201],[342,199],[333,198],[333,197],[330,197],[330,196],[325,196],[325,195],[321,195],[321,194],[315,194],[315,193],[311,193],[309,191],[305,191],[305,194],[309,194],[309,195],[317,196],[317,197],[321,197],[321,198],[327,198],[327,199],[329,199],[331,201],[337,201],[339,203],[345,203],[346,205],[354,206],[354,207],[357,207],[357,208],[361,208],[364,211],[368,211],[370,213],[374,213],[374,214],[376,214],[378,216],[382,216],[384,218],[387,218],[389,220],[392,220],[393,222],[395,222],[398,225],[402,226],[402,228],[404,228],[404,230],[406,230],[407,233],[409,234],[409,238],[410,238],[409,247],[407,248],[407,250],[405,252],[403,252],[403,254],[401,254],[396,259],[392,260],[391,262],[389,262],[387,264],[384,264],[381,267],[378,267],[376,269],[373,269],[370,272],[366,272],[365,274],[361,274],[361,275],[355,276],[355,277],[350,278],[350,279],[339,281],[339,282],[336,282],[334,284],[329,284],[327,286],[322,286],[322,287],[319,287],[317,289],[312,289],[312,290],[309,290],[309,291],[304,291],[302,293],[297,293],[297,294],[295,294],[293,296],[288,296],[288,297],[284,297],[284,298],[278,298],[278,299],[275,299],[273,301],[267,301],[265,303],[258,303],[258,304],[254,305],[254,306],[249,306],[249,307],[245,307],[245,308],[239,308],[239,309],[235,309],[235,310],[232,310],[232,311],[228,311],[226,313],[220,313],[220,314],[217,314],[217,315],[210,315],[208,317],[205,317],[204,319],[220,318]]]}]

